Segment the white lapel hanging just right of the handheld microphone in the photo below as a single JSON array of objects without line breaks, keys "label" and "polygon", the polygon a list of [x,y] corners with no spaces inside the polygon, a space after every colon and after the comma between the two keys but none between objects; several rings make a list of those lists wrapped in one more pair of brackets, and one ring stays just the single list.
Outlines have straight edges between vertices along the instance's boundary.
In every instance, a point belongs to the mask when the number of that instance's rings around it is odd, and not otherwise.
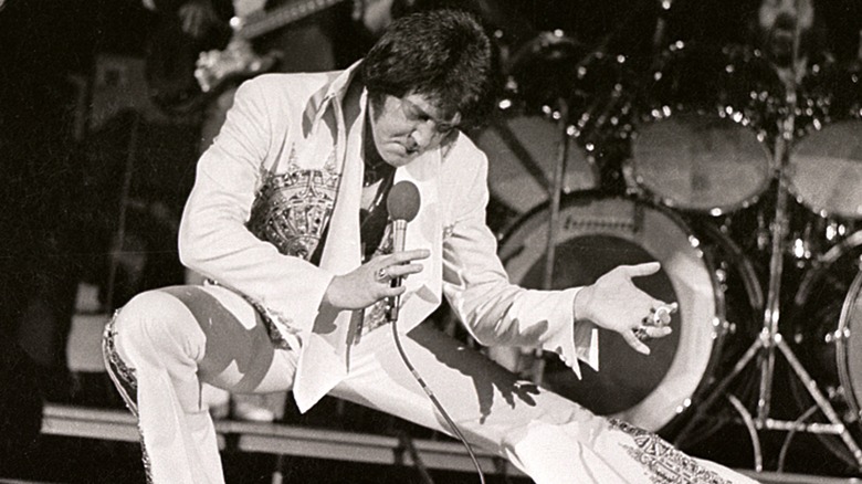
[{"label": "white lapel hanging just right of the handheld microphone", "polygon": [[407,224],[406,249],[428,249],[431,256],[421,261],[423,269],[404,281],[407,292],[400,309],[401,332],[421,323],[441,302],[443,281],[442,207],[439,199],[440,149],[424,154],[396,170],[395,181],[410,181],[419,189],[420,204],[416,219]]}]

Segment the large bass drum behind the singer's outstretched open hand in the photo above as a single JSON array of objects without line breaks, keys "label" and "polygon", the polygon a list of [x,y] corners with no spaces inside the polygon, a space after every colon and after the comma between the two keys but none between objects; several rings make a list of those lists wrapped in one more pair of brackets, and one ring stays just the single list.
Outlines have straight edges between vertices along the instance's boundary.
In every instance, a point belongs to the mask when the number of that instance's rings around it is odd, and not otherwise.
[{"label": "large bass drum behind the singer's outstretched open hand", "polygon": [[[525,287],[544,281],[548,211],[542,207],[523,218],[501,245],[512,281]],[[529,373],[524,367],[538,364],[544,370],[537,379],[561,396],[660,431],[706,390],[728,350],[756,334],[763,295],[754,269],[718,230],[695,235],[674,213],[640,200],[577,193],[564,200],[559,223],[551,288],[591,284],[620,264],[659,261],[662,271],[634,282],[653,297],[679,303],[673,333],[651,340],[646,357],[599,329],[600,371],[581,365],[581,380],[554,355],[525,362],[525,353],[517,365],[491,356],[513,371]]]}]

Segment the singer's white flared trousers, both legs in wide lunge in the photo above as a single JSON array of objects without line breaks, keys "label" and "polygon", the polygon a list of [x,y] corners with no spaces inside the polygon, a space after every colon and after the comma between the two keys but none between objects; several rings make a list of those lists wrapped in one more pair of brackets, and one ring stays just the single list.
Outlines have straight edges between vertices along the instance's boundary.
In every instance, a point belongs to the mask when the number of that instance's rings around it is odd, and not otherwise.
[{"label": "singer's white flared trousers, both legs in wide lunge", "polygon": [[[288,390],[296,370],[297,351],[275,349],[254,307],[219,286],[143,293],[106,335],[106,360],[128,367],[108,365],[137,411],[156,484],[224,482],[201,382],[232,392]],[[419,325],[401,343],[470,443],[506,457],[537,483],[755,482],[518,380],[432,325]],[[133,387],[120,385],[124,375]],[[348,377],[332,394],[451,433],[406,368],[389,326],[362,335]]]}]

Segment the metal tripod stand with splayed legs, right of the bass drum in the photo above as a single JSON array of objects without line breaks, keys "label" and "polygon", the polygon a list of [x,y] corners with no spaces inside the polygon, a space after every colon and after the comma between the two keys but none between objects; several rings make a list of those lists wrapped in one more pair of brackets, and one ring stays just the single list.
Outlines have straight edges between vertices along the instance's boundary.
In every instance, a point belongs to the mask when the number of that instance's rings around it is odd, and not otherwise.
[{"label": "metal tripod stand with splayed legs, right of the bass drum", "polygon": [[[764,326],[758,338],[755,339],[743,357],[736,362],[733,370],[711,390],[708,398],[696,406],[695,414],[680,431],[676,441],[679,442],[682,440],[682,438],[692,430],[697,418],[705,414],[706,410],[708,410],[719,397],[726,396],[734,409],[742,417],[743,422],[748,428],[748,432],[753,439],[755,471],[763,471],[763,455],[757,433],[759,430],[837,434],[853,454],[859,467],[862,469],[862,450],[859,444],[853,440],[853,436],[841,421],[841,418],[829,402],[829,399],[826,398],[818,388],[817,381],[814,381],[805,369],[778,329],[784,255],[789,225],[787,204],[790,194],[788,191],[786,166],[789,159],[790,146],[792,145],[795,133],[796,90],[793,87],[788,90],[787,104],[788,117],[784,120],[780,130],[781,134],[776,140],[775,149],[775,170],[778,188],[776,193],[775,219],[770,225],[771,253],[769,259],[769,286],[766,308],[764,311]],[[793,375],[805,385],[806,390],[808,390],[809,394],[814,400],[817,408],[826,415],[829,423],[803,423],[802,419],[785,421],[769,417],[771,410],[776,349],[780,351],[781,356],[784,356],[790,365]],[[756,414],[754,415],[735,396],[726,393],[730,382],[753,361],[759,369],[759,391]]]}]

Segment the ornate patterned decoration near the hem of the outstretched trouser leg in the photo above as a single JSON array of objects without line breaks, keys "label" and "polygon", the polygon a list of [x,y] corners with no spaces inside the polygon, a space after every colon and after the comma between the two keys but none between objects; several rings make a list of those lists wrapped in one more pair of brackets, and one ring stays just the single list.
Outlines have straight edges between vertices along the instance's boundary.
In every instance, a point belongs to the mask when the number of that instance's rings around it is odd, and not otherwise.
[{"label": "ornate patterned decoration near the hem of the outstretched trouser leg", "polygon": [[631,436],[634,445],[623,448],[640,462],[656,484],[733,484],[697,461],[683,454],[659,435],[618,419],[609,419],[611,430]]}]

